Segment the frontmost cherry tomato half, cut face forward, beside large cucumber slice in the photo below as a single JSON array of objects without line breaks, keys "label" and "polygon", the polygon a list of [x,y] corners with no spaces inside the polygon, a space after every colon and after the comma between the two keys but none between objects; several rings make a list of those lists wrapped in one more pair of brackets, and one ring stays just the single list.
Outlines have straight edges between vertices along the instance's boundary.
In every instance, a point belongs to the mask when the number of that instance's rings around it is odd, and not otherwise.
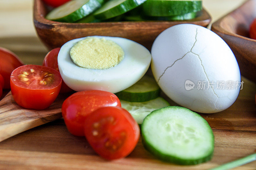
[{"label": "frontmost cherry tomato half, cut face forward, beside large cucumber slice", "polygon": [[128,111],[102,107],[85,118],[84,134],[95,152],[112,160],[133,151],[140,138],[140,127]]}]

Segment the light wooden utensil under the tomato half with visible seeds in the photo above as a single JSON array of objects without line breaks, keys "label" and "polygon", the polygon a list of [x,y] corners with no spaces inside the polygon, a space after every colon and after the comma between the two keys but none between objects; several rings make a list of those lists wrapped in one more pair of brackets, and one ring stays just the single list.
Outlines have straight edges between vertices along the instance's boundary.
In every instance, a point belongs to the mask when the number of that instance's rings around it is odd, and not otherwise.
[{"label": "light wooden utensil under the tomato half with visible seeds", "polygon": [[60,94],[55,102],[45,110],[20,107],[9,92],[0,101],[0,142],[18,133],[46,124],[62,117],[61,105],[68,94]]}]

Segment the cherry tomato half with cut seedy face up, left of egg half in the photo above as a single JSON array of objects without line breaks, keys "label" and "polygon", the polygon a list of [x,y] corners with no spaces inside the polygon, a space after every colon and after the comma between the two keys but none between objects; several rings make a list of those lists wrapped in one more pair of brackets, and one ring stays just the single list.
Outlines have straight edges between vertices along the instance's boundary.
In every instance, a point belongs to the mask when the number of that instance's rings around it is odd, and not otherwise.
[{"label": "cherry tomato half with cut seedy face up, left of egg half", "polygon": [[10,81],[13,99],[27,109],[45,109],[58,96],[61,81],[60,73],[50,67],[18,67],[12,72]]}]

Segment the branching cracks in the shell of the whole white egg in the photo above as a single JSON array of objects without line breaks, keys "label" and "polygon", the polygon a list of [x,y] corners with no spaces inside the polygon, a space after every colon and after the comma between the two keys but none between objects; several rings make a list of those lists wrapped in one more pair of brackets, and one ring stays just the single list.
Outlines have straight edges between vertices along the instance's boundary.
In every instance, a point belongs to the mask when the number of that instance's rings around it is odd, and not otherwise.
[{"label": "branching cracks in the shell of the whole white egg", "polygon": [[[182,56],[181,58],[175,60],[175,61],[172,63],[171,66],[166,67],[165,70],[164,70],[164,72],[163,72],[163,74],[161,74],[160,77],[158,78],[157,83],[160,81],[161,77],[163,77],[163,75],[165,74],[165,72],[166,72],[169,68],[171,68],[177,61],[182,60],[188,53],[192,53],[192,54],[195,54],[196,56],[198,56],[198,59],[199,59],[200,62],[201,62],[201,66],[203,67],[204,74],[205,74],[205,76],[206,76],[208,82],[210,82],[210,79],[209,79],[208,75],[207,75],[206,72],[205,72],[202,59],[200,58],[199,54],[196,54],[196,53],[194,53],[194,52],[192,51],[193,48],[194,48],[194,46],[196,45],[196,42],[197,42],[197,34],[198,34],[198,31],[197,31],[197,28],[196,28],[195,42],[194,42],[193,46],[191,47],[190,51],[187,52],[187,53],[186,53],[184,56]],[[214,89],[213,89],[212,86],[211,86],[211,89],[212,89],[212,91],[213,91],[213,94],[214,94],[218,99],[219,99],[219,98],[222,98],[222,97],[219,97],[219,96],[215,93],[215,91],[214,91]],[[220,109],[220,107],[219,107],[219,108],[216,107],[216,103],[218,102],[218,99],[217,99],[216,102],[214,103],[216,110]],[[195,102],[195,100],[193,101],[193,103],[194,103],[194,102]],[[192,103],[192,105],[193,105],[193,103]]]}]

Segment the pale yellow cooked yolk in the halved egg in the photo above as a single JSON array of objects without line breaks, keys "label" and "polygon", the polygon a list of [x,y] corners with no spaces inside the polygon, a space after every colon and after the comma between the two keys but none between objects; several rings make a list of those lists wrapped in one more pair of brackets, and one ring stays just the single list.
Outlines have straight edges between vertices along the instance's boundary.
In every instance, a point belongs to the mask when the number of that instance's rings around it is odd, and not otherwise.
[{"label": "pale yellow cooked yolk in the halved egg", "polygon": [[70,58],[79,67],[107,69],[124,59],[124,50],[114,41],[88,37],[70,49]]}]

